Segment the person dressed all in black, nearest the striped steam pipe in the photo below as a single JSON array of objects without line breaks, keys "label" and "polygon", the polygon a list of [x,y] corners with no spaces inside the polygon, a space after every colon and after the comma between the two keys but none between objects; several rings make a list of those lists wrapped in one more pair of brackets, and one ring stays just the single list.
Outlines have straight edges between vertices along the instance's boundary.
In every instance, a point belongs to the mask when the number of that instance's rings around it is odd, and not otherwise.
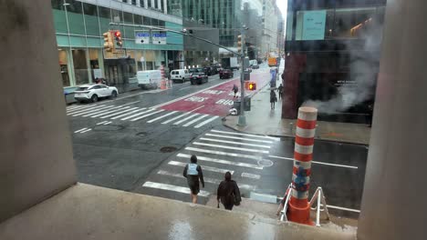
[{"label": "person dressed all in black, nearest the striped steam pipe", "polygon": [[242,198],[237,184],[231,180],[231,173],[225,173],[225,180],[218,186],[216,200],[224,205],[227,210],[232,210],[234,205],[240,205]]}]

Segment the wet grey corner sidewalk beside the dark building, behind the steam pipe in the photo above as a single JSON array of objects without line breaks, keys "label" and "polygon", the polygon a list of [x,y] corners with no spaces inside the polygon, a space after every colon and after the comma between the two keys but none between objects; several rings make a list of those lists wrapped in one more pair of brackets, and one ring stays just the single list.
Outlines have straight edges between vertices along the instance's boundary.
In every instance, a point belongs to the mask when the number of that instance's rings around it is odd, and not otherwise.
[{"label": "wet grey corner sidewalk beside the dark building, behind the steam pipe", "polygon": [[[295,136],[296,120],[282,119],[282,102],[270,109],[270,87],[266,85],[251,100],[251,111],[245,112],[246,125],[237,125],[238,115],[225,117],[224,125],[237,131],[257,135]],[[369,145],[370,127],[367,125],[318,121],[316,139],[351,144]]]}]

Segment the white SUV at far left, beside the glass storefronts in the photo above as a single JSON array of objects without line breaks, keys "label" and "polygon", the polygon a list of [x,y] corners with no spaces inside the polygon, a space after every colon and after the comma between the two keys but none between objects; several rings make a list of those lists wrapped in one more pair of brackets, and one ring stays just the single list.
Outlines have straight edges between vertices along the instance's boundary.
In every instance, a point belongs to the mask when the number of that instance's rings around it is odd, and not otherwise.
[{"label": "white SUV at far left, beside the glass storefronts", "polygon": [[74,91],[74,98],[78,102],[91,101],[93,103],[98,102],[100,98],[115,98],[119,95],[119,90],[115,86],[108,85],[80,85],[76,91]]}]

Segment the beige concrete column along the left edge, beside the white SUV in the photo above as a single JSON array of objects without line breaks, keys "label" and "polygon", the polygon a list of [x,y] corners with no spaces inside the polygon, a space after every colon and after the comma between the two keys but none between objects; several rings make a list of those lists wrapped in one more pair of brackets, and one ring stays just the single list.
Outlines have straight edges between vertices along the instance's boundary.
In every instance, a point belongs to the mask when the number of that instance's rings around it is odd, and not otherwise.
[{"label": "beige concrete column along the left edge, beside the white SUV", "polygon": [[76,169],[50,5],[2,1],[0,23],[2,222],[75,184]]}]

